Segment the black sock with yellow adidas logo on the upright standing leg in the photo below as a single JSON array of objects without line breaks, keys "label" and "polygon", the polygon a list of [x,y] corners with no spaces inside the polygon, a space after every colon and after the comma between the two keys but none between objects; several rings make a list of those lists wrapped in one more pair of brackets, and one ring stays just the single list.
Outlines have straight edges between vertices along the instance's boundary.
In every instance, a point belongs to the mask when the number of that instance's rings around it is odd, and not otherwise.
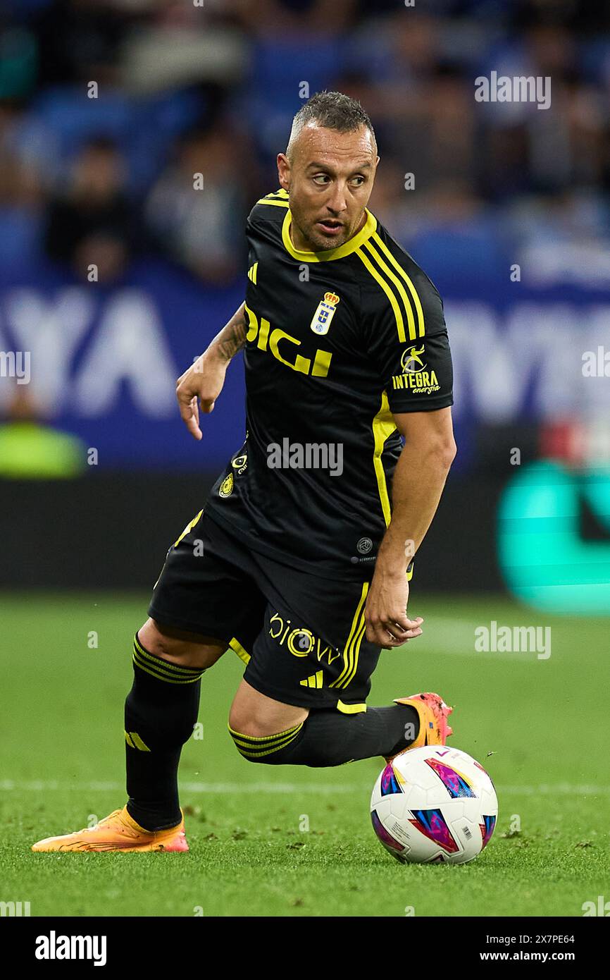
[{"label": "black sock with yellow adidas logo on the upright standing leg", "polygon": [[135,634],[133,686],[125,701],[127,812],[146,830],[181,820],[178,762],[193,734],[203,669],[155,657]]}]

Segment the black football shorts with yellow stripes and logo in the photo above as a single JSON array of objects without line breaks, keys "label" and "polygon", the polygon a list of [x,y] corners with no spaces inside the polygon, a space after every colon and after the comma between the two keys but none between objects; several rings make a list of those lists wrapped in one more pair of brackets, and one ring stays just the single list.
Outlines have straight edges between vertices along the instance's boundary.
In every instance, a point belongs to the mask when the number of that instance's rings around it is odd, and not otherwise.
[{"label": "black football shorts with yellow stripes and logo", "polygon": [[269,698],[355,713],[381,652],[364,636],[369,584],[281,564],[201,512],[167,552],[148,612],[226,643]]}]

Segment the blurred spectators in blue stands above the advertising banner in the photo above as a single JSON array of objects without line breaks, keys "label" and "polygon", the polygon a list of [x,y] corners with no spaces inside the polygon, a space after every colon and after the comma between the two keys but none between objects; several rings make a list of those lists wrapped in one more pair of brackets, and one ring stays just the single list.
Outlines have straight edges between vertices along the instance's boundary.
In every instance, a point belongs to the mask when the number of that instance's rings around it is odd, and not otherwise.
[{"label": "blurred spectators in blue stands above the advertising banner", "polygon": [[[493,71],[550,76],[550,109],[478,103]],[[3,0],[0,272],[95,263],[113,282],[156,255],[232,282],[245,216],[323,88],[369,112],[371,207],[424,268],[607,256],[608,4]]]}]

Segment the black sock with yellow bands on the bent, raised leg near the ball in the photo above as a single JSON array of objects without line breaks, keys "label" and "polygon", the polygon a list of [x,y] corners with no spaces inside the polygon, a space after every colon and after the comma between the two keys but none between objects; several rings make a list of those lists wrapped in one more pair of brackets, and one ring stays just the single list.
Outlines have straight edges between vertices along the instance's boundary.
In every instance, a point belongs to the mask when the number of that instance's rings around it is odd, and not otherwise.
[{"label": "black sock with yellow bands on the bent, raised leg near the ball", "polygon": [[419,715],[410,705],[367,708],[358,714],[311,711],[305,721],[277,735],[254,738],[229,727],[238,751],[251,762],[270,765],[341,765],[375,756],[394,756],[414,742]]}]

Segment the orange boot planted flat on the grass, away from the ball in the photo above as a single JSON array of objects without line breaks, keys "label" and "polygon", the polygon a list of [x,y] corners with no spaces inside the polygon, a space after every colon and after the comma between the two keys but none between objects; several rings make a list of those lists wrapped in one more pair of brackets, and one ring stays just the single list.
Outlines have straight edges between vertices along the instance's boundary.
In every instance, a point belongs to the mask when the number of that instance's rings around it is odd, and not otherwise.
[{"label": "orange boot planted flat on the grass, away from the ball", "polygon": [[168,830],[145,830],[129,816],[127,808],[114,810],[110,816],[62,837],[45,837],[32,844],[32,851],[188,851],[184,833],[184,815],[180,823]]}]

